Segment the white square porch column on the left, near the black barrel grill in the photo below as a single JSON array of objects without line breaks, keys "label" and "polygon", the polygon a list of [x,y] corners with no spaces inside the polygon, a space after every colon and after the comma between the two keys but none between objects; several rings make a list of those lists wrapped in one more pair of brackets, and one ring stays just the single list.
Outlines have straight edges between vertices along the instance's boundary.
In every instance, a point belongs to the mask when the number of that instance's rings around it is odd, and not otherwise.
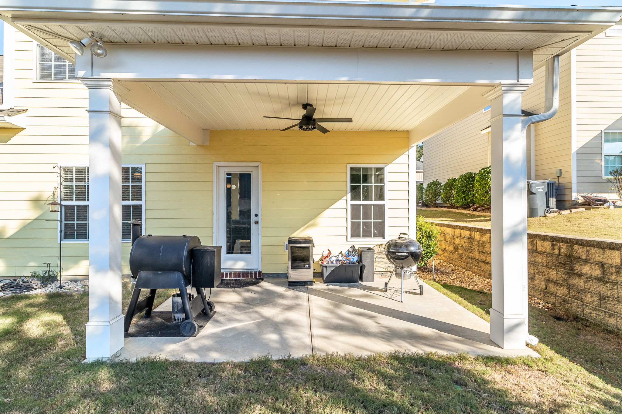
[{"label": "white square porch column on the left, near the black barrel grill", "polygon": [[89,245],[86,361],[123,348],[121,313],[121,104],[109,78],[88,88]]}]

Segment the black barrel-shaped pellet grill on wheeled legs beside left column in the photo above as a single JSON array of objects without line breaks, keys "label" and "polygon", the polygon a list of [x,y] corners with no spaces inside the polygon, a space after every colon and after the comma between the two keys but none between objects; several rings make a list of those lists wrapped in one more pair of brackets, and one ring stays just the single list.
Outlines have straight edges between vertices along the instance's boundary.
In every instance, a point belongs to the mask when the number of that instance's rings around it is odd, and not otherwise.
[{"label": "black barrel-shaped pellet grill on wheeled legs beside left column", "polygon": [[[172,299],[181,299],[183,322],[179,331],[183,336],[192,336],[198,329],[195,315],[213,312],[215,305],[205,297],[206,287],[220,284],[221,246],[202,246],[197,236],[139,236],[141,223],[131,225],[132,251],[129,254],[129,269],[136,279],[128,312],[125,315],[124,330],[129,331],[132,318],[144,311],[144,318],[151,317],[157,289],[178,289]],[[188,294],[188,286],[197,295]],[[139,300],[142,289],[149,289],[149,295]],[[178,299],[178,300],[179,300]],[[173,313],[181,313],[173,305]],[[184,318],[185,317],[185,318]]]}]

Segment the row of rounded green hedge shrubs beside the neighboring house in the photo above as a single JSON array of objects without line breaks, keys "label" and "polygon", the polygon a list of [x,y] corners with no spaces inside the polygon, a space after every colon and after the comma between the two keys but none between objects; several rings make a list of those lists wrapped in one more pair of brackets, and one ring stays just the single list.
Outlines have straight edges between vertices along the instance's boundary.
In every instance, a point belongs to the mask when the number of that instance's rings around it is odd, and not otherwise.
[{"label": "row of rounded green hedge shrubs beside the neighboring house", "polygon": [[480,169],[477,173],[468,172],[458,178],[449,178],[445,184],[434,180],[425,188],[422,185],[417,186],[418,201],[419,194],[423,194],[423,201],[430,207],[436,207],[439,199],[451,207],[490,205],[490,166]]}]

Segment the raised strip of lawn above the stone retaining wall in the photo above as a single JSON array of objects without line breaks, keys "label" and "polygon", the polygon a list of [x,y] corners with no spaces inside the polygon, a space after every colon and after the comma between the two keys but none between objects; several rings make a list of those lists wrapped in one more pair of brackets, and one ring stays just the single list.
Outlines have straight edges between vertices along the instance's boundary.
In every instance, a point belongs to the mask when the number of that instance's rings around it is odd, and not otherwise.
[{"label": "raised strip of lawn above the stone retaining wall", "polygon": [[[439,222],[490,227],[490,217],[445,210],[417,209],[417,214]],[[583,212],[532,217],[527,219],[531,232],[622,240],[622,209],[593,209]]]}]

